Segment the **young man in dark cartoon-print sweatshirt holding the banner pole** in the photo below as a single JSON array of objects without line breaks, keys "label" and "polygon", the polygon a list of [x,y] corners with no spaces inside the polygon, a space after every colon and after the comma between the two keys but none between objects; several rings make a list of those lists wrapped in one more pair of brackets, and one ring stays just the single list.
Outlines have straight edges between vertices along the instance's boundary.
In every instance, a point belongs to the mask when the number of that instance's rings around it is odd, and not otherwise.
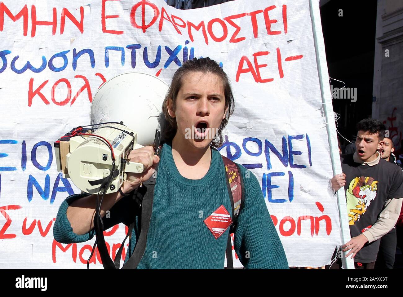
[{"label": "young man in dark cartoon-print sweatshirt holding the banner pole", "polygon": [[[373,269],[380,238],[396,224],[402,207],[403,174],[380,157],[385,126],[375,119],[357,124],[356,151],[341,156],[343,174],[331,179],[334,191],[345,187],[351,240],[342,245],[355,268]],[[336,263],[333,266],[337,266]],[[334,267],[331,267],[334,268]]]}]

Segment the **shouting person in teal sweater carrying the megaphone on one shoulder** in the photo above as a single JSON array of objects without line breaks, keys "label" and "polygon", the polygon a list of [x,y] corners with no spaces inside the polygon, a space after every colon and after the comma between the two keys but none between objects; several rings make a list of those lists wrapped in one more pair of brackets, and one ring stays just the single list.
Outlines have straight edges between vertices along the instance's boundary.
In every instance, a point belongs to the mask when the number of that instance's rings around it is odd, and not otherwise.
[{"label": "shouting person in teal sweater carrying the megaphone on one shoulder", "polygon": [[[214,60],[189,60],[174,74],[162,106],[166,125],[160,157],[154,156],[152,146],[131,151],[129,159],[144,164],[145,171],[128,174],[120,191],[105,195],[102,204],[101,215],[110,210],[114,218],[107,223],[104,217],[106,227],[126,223],[132,213],[126,199],[131,198],[123,195],[150,179],[158,164],[147,244],[137,268],[224,268],[229,228],[214,233],[204,220],[219,208],[232,212],[226,169],[217,147],[222,144],[221,133],[233,106],[229,79]],[[203,128],[218,133],[205,137]],[[195,137],[189,137],[192,134]],[[246,174],[246,168],[240,169],[245,199],[234,231],[239,260],[245,268],[288,268],[260,184],[253,174]],[[56,241],[91,239],[95,205],[96,195],[67,197],[54,225]],[[131,253],[137,240],[135,229],[129,243]]]}]

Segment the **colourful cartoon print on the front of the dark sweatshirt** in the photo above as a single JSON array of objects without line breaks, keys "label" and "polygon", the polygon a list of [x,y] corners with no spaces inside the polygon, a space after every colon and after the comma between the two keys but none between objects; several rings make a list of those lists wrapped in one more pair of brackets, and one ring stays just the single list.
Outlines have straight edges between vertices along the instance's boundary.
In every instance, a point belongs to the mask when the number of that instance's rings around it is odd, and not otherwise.
[{"label": "colourful cartoon print on the front of the dark sweatshirt", "polygon": [[349,225],[358,222],[376,198],[377,184],[378,181],[372,177],[356,177],[350,182],[346,191]]}]

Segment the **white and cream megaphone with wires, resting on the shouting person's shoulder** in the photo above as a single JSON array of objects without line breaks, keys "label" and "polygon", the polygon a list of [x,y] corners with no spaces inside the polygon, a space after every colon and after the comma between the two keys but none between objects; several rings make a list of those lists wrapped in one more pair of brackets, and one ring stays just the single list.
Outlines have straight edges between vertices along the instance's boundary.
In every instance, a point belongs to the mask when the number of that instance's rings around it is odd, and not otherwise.
[{"label": "white and cream megaphone with wires, resting on the shouting person's shoulder", "polygon": [[118,191],[127,172],[144,170],[143,164],[127,160],[129,152],[158,147],[158,117],[167,90],[166,83],[144,73],[104,83],[91,103],[91,128],[79,126],[54,143],[58,171],[85,193]]}]

